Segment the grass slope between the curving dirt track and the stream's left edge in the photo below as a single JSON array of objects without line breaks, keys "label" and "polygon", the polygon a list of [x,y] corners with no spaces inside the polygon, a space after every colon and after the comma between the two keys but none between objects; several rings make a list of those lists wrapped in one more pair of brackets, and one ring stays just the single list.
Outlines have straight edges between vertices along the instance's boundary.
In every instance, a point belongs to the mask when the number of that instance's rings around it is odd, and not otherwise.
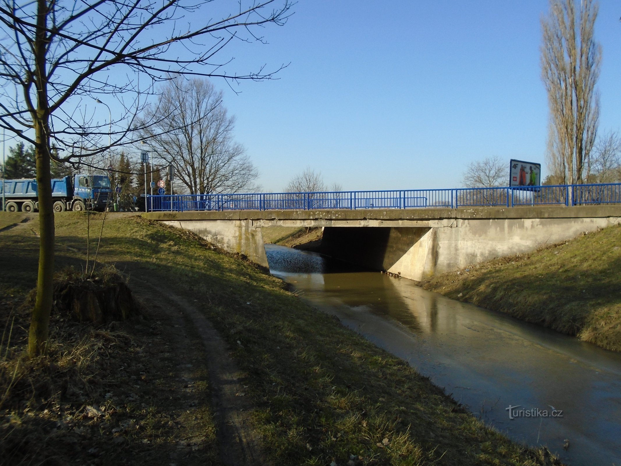
[{"label": "grass slope between the curving dirt track and the stream's left edge", "polygon": [[[101,218],[91,216],[91,231],[99,231]],[[58,267],[84,263],[85,219],[57,215]],[[4,232],[0,248],[7,289],[33,286],[34,235]],[[130,277],[148,277],[162,293],[196,300],[243,371],[254,428],[273,464],[543,464],[542,450],[509,441],[402,360],[297,299],[282,281],[193,234],[109,216],[99,259]],[[30,275],[20,272],[24,267]]]}]

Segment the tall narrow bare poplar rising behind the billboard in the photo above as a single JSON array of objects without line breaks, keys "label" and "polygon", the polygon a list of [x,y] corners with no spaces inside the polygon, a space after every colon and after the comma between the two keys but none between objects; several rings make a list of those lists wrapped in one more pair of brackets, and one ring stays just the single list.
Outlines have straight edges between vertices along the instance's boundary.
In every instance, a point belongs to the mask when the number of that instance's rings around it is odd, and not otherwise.
[{"label": "tall narrow bare poplar rising behind the billboard", "polygon": [[602,57],[594,39],[594,0],[550,0],[542,19],[542,79],[550,121],[548,169],[561,183],[582,183],[599,122],[595,89]]}]

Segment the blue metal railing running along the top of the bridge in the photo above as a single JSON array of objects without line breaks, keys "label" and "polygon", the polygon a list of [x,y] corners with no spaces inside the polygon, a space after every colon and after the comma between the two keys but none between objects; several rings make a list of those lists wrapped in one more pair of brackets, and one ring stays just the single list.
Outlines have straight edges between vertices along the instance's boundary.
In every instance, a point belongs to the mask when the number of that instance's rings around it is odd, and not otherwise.
[{"label": "blue metal railing running along the top of the bridge", "polygon": [[150,210],[176,212],[578,206],[621,204],[621,183],[447,190],[165,194],[147,197]]}]

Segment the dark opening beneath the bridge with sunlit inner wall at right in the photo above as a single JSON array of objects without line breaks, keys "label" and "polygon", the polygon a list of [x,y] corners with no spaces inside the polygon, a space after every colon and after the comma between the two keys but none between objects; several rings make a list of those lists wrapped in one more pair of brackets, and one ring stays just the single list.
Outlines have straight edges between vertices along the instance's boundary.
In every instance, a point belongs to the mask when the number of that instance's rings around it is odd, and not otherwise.
[{"label": "dark opening beneath the bridge with sunlit inner wall at right", "polygon": [[325,227],[319,252],[370,270],[420,279],[420,273],[413,276],[412,269],[422,273],[425,267],[428,247],[422,239],[430,230],[430,227]]}]

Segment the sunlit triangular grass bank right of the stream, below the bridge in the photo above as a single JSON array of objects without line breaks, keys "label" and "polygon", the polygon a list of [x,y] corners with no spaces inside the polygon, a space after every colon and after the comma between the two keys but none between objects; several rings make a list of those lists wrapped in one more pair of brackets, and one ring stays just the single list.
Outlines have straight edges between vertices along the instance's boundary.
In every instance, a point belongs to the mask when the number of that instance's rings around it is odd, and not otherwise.
[{"label": "sunlit triangular grass bank right of the stream, below the bridge", "polygon": [[621,351],[621,226],[468,269],[421,286]]}]

